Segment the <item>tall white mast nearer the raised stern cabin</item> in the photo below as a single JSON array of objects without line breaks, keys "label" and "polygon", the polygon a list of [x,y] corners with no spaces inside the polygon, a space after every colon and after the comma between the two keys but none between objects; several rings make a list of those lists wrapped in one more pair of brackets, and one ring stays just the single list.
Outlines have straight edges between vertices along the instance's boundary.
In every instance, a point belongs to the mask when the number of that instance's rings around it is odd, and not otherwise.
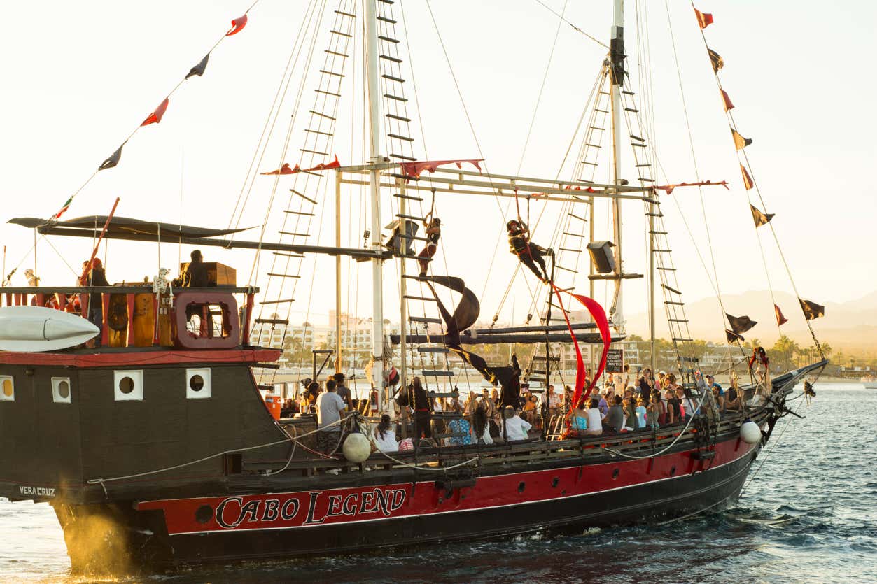
[{"label": "tall white mast nearer the raised stern cabin", "polygon": [[[374,4],[378,0],[363,0],[366,17],[366,82],[368,88],[369,162],[379,165],[381,156],[381,81],[378,77],[378,22]],[[372,203],[372,249],[381,250],[381,171],[369,172],[369,194]],[[379,383],[383,383],[383,263],[372,260],[372,356],[381,362]],[[404,326],[404,323],[403,323]],[[383,392],[378,392],[378,410],[382,410]]]}]

